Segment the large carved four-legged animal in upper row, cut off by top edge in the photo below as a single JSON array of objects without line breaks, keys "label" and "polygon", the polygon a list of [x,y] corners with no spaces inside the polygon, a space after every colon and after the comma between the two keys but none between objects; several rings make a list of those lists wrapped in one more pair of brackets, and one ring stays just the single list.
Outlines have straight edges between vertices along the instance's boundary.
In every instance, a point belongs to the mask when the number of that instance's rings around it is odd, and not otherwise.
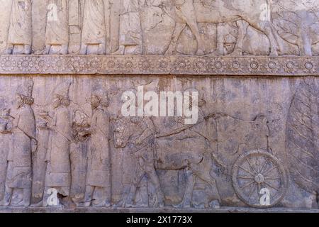
[{"label": "large carved four-legged animal in upper row, cut off by top edge", "polygon": [[269,39],[270,55],[278,55],[281,51],[279,35],[276,33],[271,20],[272,0],[169,0],[168,14],[175,21],[172,41],[166,52],[167,55],[176,53],[177,41],[181,32],[189,26],[194,33],[198,46],[197,55],[204,55],[205,44],[198,30],[198,23],[237,23],[238,38],[235,52],[242,55],[242,43],[248,24],[261,31]]}]

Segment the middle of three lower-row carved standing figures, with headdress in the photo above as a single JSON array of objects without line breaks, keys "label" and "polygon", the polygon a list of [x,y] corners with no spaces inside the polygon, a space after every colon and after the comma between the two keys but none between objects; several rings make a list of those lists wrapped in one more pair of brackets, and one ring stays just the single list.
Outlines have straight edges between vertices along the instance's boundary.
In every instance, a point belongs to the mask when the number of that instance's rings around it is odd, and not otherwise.
[{"label": "middle of three lower-row carved standing figures, with headdress", "polygon": [[50,134],[50,145],[47,150],[47,171],[45,176],[45,192],[43,206],[58,204],[47,204],[52,189],[57,194],[69,196],[71,186],[71,163],[69,157],[69,144],[72,140],[72,119],[69,113],[69,83],[60,84],[53,96],[52,107],[53,118],[48,118]]}]

